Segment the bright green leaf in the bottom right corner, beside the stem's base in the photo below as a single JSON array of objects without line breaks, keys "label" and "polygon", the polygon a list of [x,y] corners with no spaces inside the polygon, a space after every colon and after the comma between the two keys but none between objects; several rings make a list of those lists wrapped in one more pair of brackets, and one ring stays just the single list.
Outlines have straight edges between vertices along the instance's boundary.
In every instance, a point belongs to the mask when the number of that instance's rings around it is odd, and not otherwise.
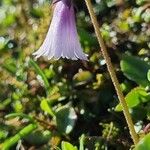
[{"label": "bright green leaf in the bottom right corner, beside the stem's base", "polygon": [[150,150],[150,134],[140,140],[134,150]]}]

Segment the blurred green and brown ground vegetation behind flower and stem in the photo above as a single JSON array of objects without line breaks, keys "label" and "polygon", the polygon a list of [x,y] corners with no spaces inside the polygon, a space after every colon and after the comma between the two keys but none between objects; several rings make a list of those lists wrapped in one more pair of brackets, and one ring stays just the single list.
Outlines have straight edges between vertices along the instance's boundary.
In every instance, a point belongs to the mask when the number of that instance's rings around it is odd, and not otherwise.
[{"label": "blurred green and brown ground vegetation behind flower and stem", "polygon": [[[150,1],[92,2],[142,138],[150,126]],[[50,4],[0,1],[0,149],[129,149],[133,143],[84,1],[75,0],[76,18],[89,61],[32,57],[48,30]],[[143,143],[138,149],[148,150],[149,135]]]}]

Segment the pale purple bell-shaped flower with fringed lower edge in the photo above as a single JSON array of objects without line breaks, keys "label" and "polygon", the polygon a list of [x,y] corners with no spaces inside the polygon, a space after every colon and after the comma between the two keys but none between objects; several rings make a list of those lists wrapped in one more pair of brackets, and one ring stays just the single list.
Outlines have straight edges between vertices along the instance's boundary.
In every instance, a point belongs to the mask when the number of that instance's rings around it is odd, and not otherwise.
[{"label": "pale purple bell-shaped flower with fringed lower edge", "polygon": [[87,60],[83,53],[76,29],[72,0],[53,0],[54,13],[46,38],[33,55],[48,59],[67,58]]}]

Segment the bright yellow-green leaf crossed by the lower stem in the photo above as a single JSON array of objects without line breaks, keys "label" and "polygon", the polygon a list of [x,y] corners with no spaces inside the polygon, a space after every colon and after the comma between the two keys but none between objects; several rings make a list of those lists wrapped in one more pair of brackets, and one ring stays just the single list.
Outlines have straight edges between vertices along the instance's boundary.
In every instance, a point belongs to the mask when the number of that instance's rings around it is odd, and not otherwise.
[{"label": "bright yellow-green leaf crossed by the lower stem", "polygon": [[[149,94],[142,87],[137,87],[131,90],[125,97],[127,105],[129,108],[133,108],[139,105],[141,102],[146,102],[150,100]],[[115,111],[122,111],[121,104],[118,104]]]}]

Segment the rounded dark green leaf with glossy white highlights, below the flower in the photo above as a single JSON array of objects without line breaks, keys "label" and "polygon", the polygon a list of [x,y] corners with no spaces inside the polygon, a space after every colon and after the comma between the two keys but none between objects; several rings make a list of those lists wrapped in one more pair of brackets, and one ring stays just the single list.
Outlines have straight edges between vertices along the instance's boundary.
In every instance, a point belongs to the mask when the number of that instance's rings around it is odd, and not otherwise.
[{"label": "rounded dark green leaf with glossy white highlights, below the flower", "polygon": [[69,134],[75,126],[76,119],[77,115],[70,106],[62,106],[56,110],[57,128],[62,133]]}]

